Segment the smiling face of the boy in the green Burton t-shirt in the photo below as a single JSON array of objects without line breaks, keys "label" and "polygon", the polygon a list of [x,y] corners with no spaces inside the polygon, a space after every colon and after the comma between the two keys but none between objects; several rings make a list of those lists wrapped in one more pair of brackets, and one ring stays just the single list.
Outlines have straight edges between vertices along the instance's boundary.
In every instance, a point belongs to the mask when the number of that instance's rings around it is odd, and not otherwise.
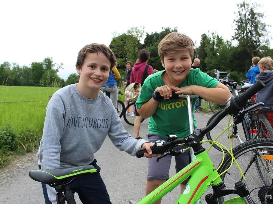
[{"label": "smiling face of the boy in the green Burton t-shirt", "polygon": [[[189,50],[177,50],[164,55],[161,61],[166,70],[166,75],[162,76],[166,82],[172,86],[178,86],[190,73],[191,58]],[[164,80],[163,78],[163,80]]]}]

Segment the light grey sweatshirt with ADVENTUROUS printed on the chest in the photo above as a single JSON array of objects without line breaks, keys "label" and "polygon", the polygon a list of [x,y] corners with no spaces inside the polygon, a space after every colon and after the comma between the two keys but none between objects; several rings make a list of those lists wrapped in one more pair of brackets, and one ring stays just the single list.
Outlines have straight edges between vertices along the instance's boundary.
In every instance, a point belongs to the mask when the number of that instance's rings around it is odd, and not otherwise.
[{"label": "light grey sweatshirt with ADVENTUROUS printed on the chest", "polygon": [[[136,140],[124,129],[110,98],[99,92],[95,99],[83,97],[76,84],[56,91],[46,108],[43,136],[37,153],[42,169],[88,165],[106,136],[132,156],[145,140]],[[47,185],[51,202],[56,191]]]}]

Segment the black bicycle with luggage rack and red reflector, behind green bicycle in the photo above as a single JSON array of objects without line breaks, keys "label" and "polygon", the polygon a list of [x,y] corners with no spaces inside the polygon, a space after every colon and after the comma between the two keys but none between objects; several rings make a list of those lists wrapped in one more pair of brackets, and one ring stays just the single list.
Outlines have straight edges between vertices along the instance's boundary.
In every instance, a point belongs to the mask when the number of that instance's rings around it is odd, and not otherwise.
[{"label": "black bicycle with luggage rack and red reflector, behind green bicycle", "polygon": [[[232,82],[233,86],[236,86],[236,82]],[[241,89],[241,93],[246,91],[250,86],[246,86]],[[235,87],[234,87],[235,88]],[[236,90],[236,89],[234,89]],[[234,96],[239,95],[237,90],[234,92]],[[257,138],[273,138],[273,129],[271,124],[269,123],[266,115],[268,112],[273,112],[271,107],[259,107],[262,106],[263,103],[251,103],[250,100],[247,101],[244,109],[238,112],[236,115],[227,115],[225,116],[218,124],[217,127],[223,131],[224,135],[227,137],[221,137],[219,142],[224,144],[226,147],[229,147],[229,142],[232,143],[233,147],[236,147],[239,144],[242,144],[245,141],[249,141],[251,139]],[[250,108],[251,107],[251,108]],[[210,124],[214,118],[217,117],[220,110],[208,120],[208,124]],[[217,129],[211,130],[206,134],[208,140],[215,140],[219,135],[219,131]],[[227,134],[227,131],[229,134]],[[229,138],[231,139],[229,141]],[[213,144],[213,147],[219,151],[222,151],[219,146]],[[224,150],[226,153],[227,151]]]}]

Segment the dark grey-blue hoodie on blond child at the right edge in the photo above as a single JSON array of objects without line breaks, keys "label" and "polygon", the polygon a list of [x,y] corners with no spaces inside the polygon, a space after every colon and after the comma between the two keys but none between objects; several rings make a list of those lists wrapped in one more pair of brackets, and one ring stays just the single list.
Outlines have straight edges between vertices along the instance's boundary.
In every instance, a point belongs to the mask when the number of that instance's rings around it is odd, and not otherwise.
[{"label": "dark grey-blue hoodie on blond child at the right edge", "polygon": [[265,87],[256,93],[255,102],[263,102],[265,104],[264,107],[273,107],[273,72],[262,71],[256,76],[256,81],[259,79],[265,83]]}]

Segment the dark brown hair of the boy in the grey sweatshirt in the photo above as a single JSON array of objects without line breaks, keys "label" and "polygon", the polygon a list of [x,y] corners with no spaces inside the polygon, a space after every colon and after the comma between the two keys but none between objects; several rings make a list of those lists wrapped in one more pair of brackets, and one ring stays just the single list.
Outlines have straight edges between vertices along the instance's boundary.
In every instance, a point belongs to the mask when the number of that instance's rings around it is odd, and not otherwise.
[{"label": "dark brown hair of the boy in the grey sweatshirt", "polygon": [[110,72],[112,71],[113,67],[117,65],[117,59],[113,53],[113,51],[107,47],[104,44],[99,44],[99,43],[92,43],[85,45],[83,48],[80,49],[77,57],[77,63],[76,66],[78,66],[81,69],[81,66],[83,65],[83,61],[85,59],[85,56],[87,53],[93,53],[96,52],[102,52],[110,61],[111,66],[110,66]]}]

